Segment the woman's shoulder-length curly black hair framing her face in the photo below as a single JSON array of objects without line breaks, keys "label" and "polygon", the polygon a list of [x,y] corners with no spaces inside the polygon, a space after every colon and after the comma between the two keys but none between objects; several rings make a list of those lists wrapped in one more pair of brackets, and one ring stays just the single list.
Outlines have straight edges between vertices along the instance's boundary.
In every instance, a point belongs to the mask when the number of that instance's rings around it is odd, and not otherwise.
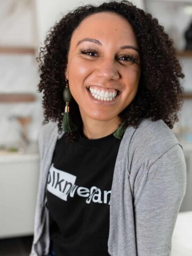
[{"label": "woman's shoulder-length curly black hair framing her face", "polygon": [[[58,132],[62,131],[62,113],[65,107],[62,93],[70,39],[83,19],[99,12],[117,13],[129,21],[140,47],[141,77],[138,92],[130,105],[119,114],[119,118],[126,127],[137,127],[142,118],[151,118],[152,121],[163,119],[172,129],[173,124],[178,121],[177,113],[182,106],[183,88],[180,78],[184,77],[175,57],[173,41],[157,19],[129,1],[78,7],[50,29],[45,46],[41,47],[37,58],[40,73],[38,92],[44,93],[43,124],[58,122]],[[74,123],[79,125],[82,121],[75,100],[71,101],[70,110]]]}]

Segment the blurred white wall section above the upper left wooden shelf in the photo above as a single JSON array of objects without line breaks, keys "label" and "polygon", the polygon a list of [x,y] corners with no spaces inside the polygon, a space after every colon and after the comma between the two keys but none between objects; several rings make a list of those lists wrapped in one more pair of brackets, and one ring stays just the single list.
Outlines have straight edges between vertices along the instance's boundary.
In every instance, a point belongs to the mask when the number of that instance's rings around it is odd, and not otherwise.
[{"label": "blurred white wall section above the upper left wooden shelf", "polygon": [[34,46],[33,1],[0,0],[0,45]]}]

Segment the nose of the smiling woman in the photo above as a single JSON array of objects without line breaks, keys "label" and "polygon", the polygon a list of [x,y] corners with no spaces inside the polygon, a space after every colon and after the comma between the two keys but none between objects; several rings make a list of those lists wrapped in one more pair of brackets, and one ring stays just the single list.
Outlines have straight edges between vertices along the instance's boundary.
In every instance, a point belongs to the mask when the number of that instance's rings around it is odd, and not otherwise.
[{"label": "nose of the smiling woman", "polygon": [[106,80],[118,80],[120,75],[113,59],[101,59],[97,65],[97,76]]}]

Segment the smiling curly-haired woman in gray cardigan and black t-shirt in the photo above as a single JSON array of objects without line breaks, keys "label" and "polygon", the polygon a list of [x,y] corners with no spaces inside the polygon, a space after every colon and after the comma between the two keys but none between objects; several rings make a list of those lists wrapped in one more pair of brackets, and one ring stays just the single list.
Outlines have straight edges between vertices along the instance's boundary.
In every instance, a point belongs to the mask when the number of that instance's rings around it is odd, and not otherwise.
[{"label": "smiling curly-haired woman in gray cardigan and black t-shirt", "polygon": [[31,255],[170,255],[186,165],[170,130],[183,74],[163,27],[127,1],[82,6],[39,60],[52,122],[39,134]]}]

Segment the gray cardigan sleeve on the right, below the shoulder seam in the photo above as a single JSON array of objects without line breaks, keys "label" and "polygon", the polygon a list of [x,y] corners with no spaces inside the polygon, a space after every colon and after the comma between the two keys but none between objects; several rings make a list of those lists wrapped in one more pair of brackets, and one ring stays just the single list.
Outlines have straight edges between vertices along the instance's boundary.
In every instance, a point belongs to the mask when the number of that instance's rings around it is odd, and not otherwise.
[{"label": "gray cardigan sleeve on the right, below the shoulder seam", "polygon": [[134,188],[137,256],[171,254],[171,239],[185,191],[185,158],[177,144],[147,167]]}]

